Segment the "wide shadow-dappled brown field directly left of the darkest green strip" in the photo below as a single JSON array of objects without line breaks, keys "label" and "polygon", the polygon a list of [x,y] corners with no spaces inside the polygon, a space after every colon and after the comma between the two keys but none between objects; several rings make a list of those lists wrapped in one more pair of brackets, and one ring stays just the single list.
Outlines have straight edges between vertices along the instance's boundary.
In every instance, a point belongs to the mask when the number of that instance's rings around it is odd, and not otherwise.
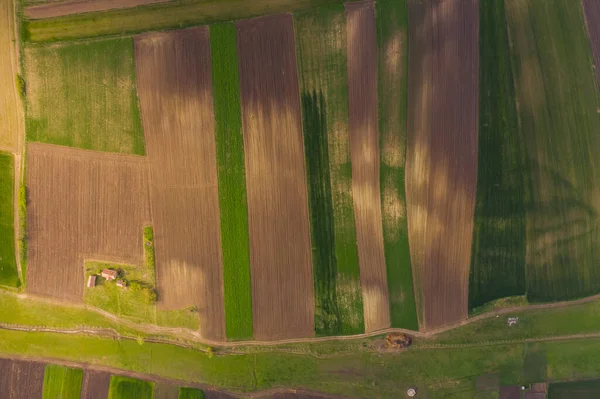
[{"label": "wide shadow-dappled brown field directly left of the darkest green strip", "polygon": [[477,180],[478,2],[409,2],[406,196],[424,329],[467,317]]}]

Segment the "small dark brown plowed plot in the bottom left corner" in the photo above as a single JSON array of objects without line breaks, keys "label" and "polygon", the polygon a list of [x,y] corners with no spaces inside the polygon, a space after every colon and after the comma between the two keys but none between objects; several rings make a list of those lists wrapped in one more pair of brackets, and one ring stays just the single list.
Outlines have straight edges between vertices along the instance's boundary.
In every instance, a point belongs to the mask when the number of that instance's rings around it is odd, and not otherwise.
[{"label": "small dark brown plowed plot in the bottom left corner", "polygon": [[44,363],[0,359],[0,397],[37,399],[44,387]]}]

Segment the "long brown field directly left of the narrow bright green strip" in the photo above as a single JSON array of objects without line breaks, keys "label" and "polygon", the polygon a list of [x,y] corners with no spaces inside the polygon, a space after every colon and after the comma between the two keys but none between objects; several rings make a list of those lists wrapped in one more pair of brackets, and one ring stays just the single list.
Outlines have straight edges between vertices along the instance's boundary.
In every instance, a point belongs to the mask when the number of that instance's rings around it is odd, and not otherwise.
[{"label": "long brown field directly left of the narrow bright green strip", "polygon": [[208,28],[142,35],[134,43],[158,305],[197,306],[202,335],[225,339]]}]

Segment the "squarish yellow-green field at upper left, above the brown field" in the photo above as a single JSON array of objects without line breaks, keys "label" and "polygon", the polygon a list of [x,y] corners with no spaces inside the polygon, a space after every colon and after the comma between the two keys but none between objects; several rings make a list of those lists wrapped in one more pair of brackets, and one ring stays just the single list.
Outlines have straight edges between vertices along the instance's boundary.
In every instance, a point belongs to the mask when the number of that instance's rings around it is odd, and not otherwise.
[{"label": "squarish yellow-green field at upper left, above the brown field", "polygon": [[29,140],[144,154],[131,39],[30,46],[25,69]]}]

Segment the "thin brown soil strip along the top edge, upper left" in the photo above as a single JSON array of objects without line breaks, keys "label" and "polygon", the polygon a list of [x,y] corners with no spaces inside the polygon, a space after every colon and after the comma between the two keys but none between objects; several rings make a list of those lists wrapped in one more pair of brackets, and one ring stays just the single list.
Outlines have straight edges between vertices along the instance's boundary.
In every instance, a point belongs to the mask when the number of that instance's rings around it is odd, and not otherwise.
[{"label": "thin brown soil strip along the top edge, upper left", "polygon": [[55,18],[71,14],[107,11],[115,8],[131,8],[144,4],[166,3],[170,0],[73,0],[53,2],[25,9],[29,19]]}]

